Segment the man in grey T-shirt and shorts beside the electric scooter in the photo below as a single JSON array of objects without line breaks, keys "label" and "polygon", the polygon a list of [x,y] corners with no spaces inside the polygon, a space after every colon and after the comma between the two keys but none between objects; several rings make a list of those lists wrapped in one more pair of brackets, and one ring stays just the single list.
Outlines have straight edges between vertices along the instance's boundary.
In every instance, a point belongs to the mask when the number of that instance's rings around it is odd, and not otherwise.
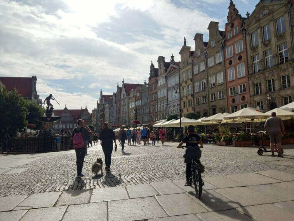
[{"label": "man in grey T-shirt and shorts beside the electric scooter", "polygon": [[277,143],[278,157],[282,156],[282,136],[285,134],[285,127],[281,118],[277,117],[275,112],[271,113],[271,117],[265,121],[265,133],[269,133],[270,136],[270,149],[272,156],[275,156],[274,145]]}]

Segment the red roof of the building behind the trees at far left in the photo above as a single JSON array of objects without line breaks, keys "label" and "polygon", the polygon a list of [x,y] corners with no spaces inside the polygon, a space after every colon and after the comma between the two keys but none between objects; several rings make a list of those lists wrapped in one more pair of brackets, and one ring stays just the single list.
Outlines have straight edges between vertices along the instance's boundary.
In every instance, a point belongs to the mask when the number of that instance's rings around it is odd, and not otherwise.
[{"label": "red roof of the building behind the trees at far left", "polygon": [[0,77],[7,91],[16,90],[24,97],[31,96],[32,77]]}]

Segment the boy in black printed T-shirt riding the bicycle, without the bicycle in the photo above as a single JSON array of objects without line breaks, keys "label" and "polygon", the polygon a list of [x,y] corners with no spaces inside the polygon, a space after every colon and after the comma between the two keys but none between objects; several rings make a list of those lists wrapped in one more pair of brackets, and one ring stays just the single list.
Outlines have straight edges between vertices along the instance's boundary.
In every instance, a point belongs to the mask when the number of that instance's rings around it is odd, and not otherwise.
[{"label": "boy in black printed T-shirt riding the bicycle, without the bicycle", "polygon": [[201,173],[204,172],[204,166],[200,162],[201,157],[201,150],[198,147],[198,143],[200,144],[200,148],[203,148],[203,143],[200,137],[195,134],[195,128],[192,125],[187,127],[188,135],[183,138],[181,143],[177,146],[177,148],[181,148],[181,146],[185,143],[186,144],[186,154],[185,156],[185,163],[186,163],[186,184],[185,186],[191,186],[191,161],[192,159],[196,159],[197,164],[200,167]]}]

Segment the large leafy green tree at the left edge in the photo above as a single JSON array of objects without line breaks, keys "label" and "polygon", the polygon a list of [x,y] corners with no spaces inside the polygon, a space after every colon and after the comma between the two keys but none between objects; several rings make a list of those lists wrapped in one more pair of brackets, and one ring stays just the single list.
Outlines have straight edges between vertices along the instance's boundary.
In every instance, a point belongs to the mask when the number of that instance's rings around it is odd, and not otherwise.
[{"label": "large leafy green tree at the left edge", "polygon": [[16,130],[22,130],[27,125],[28,109],[25,100],[17,94],[17,90],[7,91],[0,88],[0,139],[7,134],[14,136]]}]

